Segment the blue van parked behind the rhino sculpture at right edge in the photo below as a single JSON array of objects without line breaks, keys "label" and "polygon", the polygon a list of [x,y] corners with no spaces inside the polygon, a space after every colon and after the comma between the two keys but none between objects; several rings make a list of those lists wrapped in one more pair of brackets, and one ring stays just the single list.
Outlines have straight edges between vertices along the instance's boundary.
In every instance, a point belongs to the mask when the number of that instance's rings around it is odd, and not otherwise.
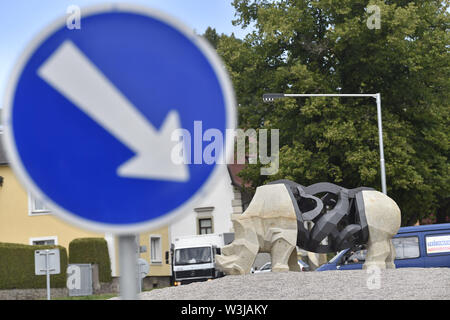
[{"label": "blue van parked behind the rhino sculpture at right edge", "polygon": [[[402,227],[392,239],[397,268],[450,267],[450,223]],[[366,248],[340,251],[317,271],[362,269]]]}]

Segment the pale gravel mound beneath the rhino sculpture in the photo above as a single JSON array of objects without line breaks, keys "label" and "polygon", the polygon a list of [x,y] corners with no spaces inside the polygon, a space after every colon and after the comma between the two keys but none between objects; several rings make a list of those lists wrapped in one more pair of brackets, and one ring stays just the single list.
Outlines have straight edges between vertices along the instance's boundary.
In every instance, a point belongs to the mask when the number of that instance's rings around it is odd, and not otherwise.
[{"label": "pale gravel mound beneath the rhino sculpture", "polygon": [[[258,273],[141,293],[145,300],[450,300],[450,268]],[[374,280],[374,281],[371,281]]]}]

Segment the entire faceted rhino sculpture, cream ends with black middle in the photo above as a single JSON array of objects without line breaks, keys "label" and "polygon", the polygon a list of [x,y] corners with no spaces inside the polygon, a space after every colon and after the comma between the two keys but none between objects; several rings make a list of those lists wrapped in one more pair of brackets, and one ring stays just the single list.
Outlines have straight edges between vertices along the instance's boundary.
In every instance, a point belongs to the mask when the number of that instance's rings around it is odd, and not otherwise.
[{"label": "entire faceted rhino sculpture, cream ends with black middle", "polygon": [[326,253],[367,244],[364,268],[395,268],[391,239],[400,220],[397,204],[371,188],[278,180],[258,187],[245,212],[233,215],[235,240],[216,262],[226,274],[245,274],[256,255],[267,252],[272,271],[300,271],[297,246]]}]

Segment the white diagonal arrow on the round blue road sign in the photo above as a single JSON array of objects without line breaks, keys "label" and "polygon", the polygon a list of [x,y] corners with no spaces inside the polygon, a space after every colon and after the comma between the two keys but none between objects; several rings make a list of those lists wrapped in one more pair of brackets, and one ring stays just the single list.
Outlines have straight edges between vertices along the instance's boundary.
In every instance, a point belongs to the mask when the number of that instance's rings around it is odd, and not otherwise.
[{"label": "white diagonal arrow on the round blue road sign", "polygon": [[39,68],[38,75],[136,153],[117,168],[122,177],[189,180],[184,163],[172,161],[171,134],[179,115],[169,112],[160,130],[128,101],[71,41],[65,41]]}]

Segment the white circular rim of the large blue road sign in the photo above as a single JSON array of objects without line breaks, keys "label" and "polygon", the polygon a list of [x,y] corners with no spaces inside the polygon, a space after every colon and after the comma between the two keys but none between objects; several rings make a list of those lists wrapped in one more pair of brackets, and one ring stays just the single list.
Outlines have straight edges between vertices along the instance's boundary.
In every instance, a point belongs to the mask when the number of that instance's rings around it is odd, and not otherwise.
[{"label": "white circular rim of the large blue road sign", "polygon": [[[145,16],[149,16],[152,18],[160,19],[174,29],[181,32],[188,39],[194,43],[197,48],[206,56],[209,63],[211,64],[213,70],[218,76],[218,81],[222,88],[222,93],[225,99],[225,108],[226,108],[226,128],[227,129],[235,129],[236,128],[236,99],[234,95],[234,90],[232,83],[228,77],[228,74],[225,71],[225,66],[222,63],[221,59],[212,48],[212,46],[207,42],[207,40],[203,39],[199,35],[195,34],[193,29],[187,27],[177,19],[155,9],[151,9],[148,7],[140,6],[140,5],[130,5],[130,4],[107,4],[107,5],[97,5],[87,7],[85,9],[81,9],[81,17],[86,17],[94,14],[105,13],[105,12],[128,12],[128,13],[136,13]],[[59,28],[64,27],[66,25],[66,16],[63,16],[57,19],[54,23],[49,25],[43,31],[41,31],[27,46],[24,52],[20,55],[18,61],[16,62],[12,74],[8,80],[6,87],[6,94],[4,99],[4,137],[3,141],[5,144],[5,149],[7,152],[8,160],[10,161],[11,167],[13,168],[14,173],[17,175],[20,182],[27,187],[32,194],[36,195],[40,199],[46,202],[46,204],[50,207],[52,212],[54,212],[57,216],[61,217],[63,220],[72,223],[78,227],[89,229],[97,232],[111,232],[115,234],[130,234],[130,233],[139,233],[148,231],[150,229],[156,229],[163,226],[168,225],[176,217],[179,217],[183,212],[190,212],[195,207],[195,204],[201,200],[201,196],[204,195],[207,190],[209,190],[214,183],[220,178],[223,172],[226,170],[221,168],[221,164],[216,164],[213,172],[208,177],[208,180],[203,183],[202,187],[199,188],[196,193],[185,203],[183,203],[178,208],[174,209],[171,212],[168,212],[164,216],[158,217],[156,219],[152,219],[147,222],[142,223],[134,223],[129,225],[114,225],[107,223],[100,223],[90,221],[88,219],[84,219],[80,216],[77,216],[74,213],[71,213],[64,208],[60,207],[58,204],[53,202],[49,197],[45,195],[44,192],[40,190],[40,188],[35,184],[35,182],[28,175],[28,172],[25,170],[22,161],[19,157],[19,154],[16,150],[16,144],[14,141],[13,128],[12,128],[12,119],[11,119],[11,108],[13,106],[13,98],[16,90],[17,82],[19,80],[20,75],[29,58],[33,55],[35,50],[44,42],[49,35],[57,31]],[[232,150],[233,139],[229,139],[226,142],[226,148],[223,150]]]}]

